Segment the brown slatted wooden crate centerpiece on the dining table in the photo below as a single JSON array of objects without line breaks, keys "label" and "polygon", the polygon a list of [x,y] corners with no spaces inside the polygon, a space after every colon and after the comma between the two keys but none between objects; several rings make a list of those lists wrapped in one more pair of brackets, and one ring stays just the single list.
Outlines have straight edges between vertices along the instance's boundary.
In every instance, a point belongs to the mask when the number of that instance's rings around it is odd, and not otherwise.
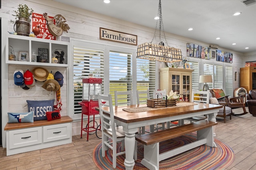
[{"label": "brown slatted wooden crate centerpiece on the dining table", "polygon": [[147,106],[152,108],[160,108],[160,107],[172,107],[176,106],[176,99],[148,99]]}]

